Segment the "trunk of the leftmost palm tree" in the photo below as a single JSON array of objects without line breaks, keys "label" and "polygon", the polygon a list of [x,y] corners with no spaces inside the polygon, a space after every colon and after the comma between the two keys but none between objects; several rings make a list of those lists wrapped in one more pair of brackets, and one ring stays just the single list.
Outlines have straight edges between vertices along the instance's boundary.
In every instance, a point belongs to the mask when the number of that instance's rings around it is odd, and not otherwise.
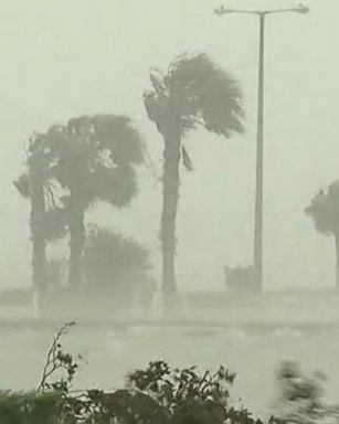
[{"label": "trunk of the leftmost palm tree", "polygon": [[39,294],[47,288],[46,246],[41,223],[45,213],[43,186],[31,178],[31,239],[32,239],[32,280]]}]

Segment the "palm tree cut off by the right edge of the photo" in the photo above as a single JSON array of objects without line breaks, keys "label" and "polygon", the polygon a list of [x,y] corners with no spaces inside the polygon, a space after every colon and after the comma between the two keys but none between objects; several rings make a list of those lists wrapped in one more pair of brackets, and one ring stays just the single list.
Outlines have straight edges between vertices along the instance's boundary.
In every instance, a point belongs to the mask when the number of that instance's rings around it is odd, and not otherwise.
[{"label": "palm tree cut off by the right edge of the photo", "polygon": [[336,287],[339,289],[339,180],[332,182],[327,192],[319,191],[305,212],[312,218],[319,233],[335,237]]}]

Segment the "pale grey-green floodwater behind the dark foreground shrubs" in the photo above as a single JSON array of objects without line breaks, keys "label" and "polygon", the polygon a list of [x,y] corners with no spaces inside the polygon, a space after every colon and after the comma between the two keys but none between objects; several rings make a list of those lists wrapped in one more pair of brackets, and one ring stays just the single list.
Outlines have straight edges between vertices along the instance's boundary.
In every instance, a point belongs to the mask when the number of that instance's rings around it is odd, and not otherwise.
[{"label": "pale grey-green floodwater behind the dark foreground shrubs", "polygon": [[[298,361],[306,373],[325,372],[328,377],[327,401],[336,402],[339,391],[339,326],[335,320],[332,325],[324,320],[321,326],[317,325],[321,316],[332,317],[328,309],[335,306],[338,307],[338,299],[325,310],[325,306],[315,298],[314,305],[309,303],[312,319],[307,325],[305,319],[301,324],[292,322],[293,309],[288,308],[285,310],[286,324],[280,320],[279,325],[256,324],[254,318],[250,322],[247,316],[250,326],[244,324],[244,319],[239,325],[224,325],[225,321],[221,320],[220,326],[202,326],[197,320],[197,310],[195,316],[192,312],[195,326],[187,322],[168,327],[140,324],[89,328],[78,325],[64,337],[63,346],[66,351],[84,357],[75,381],[77,389],[118,388],[124,384],[127,372],[146,367],[150,360],[163,359],[173,367],[195,364],[202,371],[223,364],[237,375],[233,400],[262,415],[275,405],[275,371],[282,360]],[[240,309],[239,316],[242,316]],[[53,332],[52,328],[30,326],[0,328],[0,389],[36,386]]]}]

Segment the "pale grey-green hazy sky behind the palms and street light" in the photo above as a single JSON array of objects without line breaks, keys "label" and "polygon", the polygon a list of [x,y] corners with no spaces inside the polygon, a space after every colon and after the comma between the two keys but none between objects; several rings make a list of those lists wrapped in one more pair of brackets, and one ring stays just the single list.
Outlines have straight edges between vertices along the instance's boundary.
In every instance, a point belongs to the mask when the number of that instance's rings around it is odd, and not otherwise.
[{"label": "pale grey-green hazy sky behind the palms and street light", "polygon": [[[230,0],[239,8],[289,0]],[[257,22],[216,18],[218,0],[11,0],[0,4],[0,285],[30,282],[29,204],[11,184],[33,130],[70,117],[126,113],[144,134],[145,171],[129,211],[95,213],[152,250],[159,263],[162,142],[141,94],[150,66],[183,51],[208,52],[240,82],[246,134],[192,132],[194,172],[182,172],[178,274],[182,288],[222,287],[224,264],[253,251]],[[333,241],[304,209],[339,178],[339,2],[312,0],[308,15],[272,17],[266,31],[265,286],[329,286]]]}]

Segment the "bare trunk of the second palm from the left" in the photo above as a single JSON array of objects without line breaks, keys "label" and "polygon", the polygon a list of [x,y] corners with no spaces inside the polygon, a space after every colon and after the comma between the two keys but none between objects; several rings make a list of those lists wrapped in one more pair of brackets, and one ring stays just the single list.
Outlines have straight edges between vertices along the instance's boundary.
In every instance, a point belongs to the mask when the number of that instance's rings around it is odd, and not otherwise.
[{"label": "bare trunk of the second palm from the left", "polygon": [[68,285],[80,287],[83,283],[83,251],[85,243],[84,209],[76,191],[71,189],[70,197],[70,262]]}]

